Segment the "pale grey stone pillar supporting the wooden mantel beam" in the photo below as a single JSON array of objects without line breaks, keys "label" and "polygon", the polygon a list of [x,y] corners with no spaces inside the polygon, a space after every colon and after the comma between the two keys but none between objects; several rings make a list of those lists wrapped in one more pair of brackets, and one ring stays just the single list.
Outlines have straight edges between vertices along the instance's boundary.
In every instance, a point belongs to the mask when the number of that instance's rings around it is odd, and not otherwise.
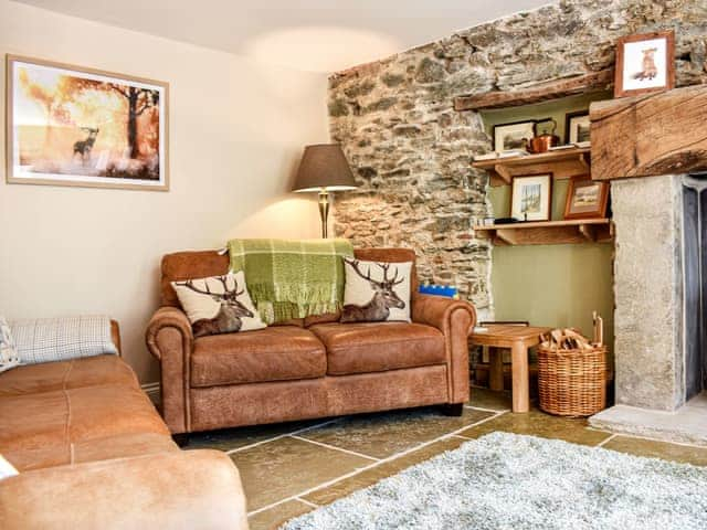
[{"label": "pale grey stone pillar supporting the wooden mantel beam", "polygon": [[674,411],[683,377],[680,177],[612,183],[616,403]]}]

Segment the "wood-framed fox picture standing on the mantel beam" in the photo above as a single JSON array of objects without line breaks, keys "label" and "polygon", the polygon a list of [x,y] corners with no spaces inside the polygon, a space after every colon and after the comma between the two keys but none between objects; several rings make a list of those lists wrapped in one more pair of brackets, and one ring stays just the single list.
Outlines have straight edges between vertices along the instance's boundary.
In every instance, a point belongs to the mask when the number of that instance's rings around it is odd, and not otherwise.
[{"label": "wood-framed fox picture standing on the mantel beam", "polygon": [[636,96],[675,86],[675,33],[658,31],[616,41],[614,96]]}]

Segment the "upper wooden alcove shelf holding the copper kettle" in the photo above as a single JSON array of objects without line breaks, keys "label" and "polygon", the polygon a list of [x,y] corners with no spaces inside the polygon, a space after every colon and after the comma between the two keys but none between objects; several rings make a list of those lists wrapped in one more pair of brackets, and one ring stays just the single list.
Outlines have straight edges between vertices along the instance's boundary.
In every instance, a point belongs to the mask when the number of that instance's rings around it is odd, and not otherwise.
[{"label": "upper wooden alcove shelf holding the copper kettle", "polygon": [[510,184],[514,177],[552,173],[555,179],[570,179],[590,173],[591,148],[574,147],[539,155],[481,160],[472,166],[490,173],[490,186]]}]

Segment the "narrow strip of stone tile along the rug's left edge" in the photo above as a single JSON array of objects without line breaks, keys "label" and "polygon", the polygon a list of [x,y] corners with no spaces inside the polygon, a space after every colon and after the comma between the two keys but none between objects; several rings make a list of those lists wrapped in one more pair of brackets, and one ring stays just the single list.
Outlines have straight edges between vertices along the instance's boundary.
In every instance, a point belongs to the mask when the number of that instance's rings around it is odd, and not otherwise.
[{"label": "narrow strip of stone tile along the rug's left edge", "polygon": [[330,486],[312,491],[303,498],[316,505],[328,505],[329,502],[334,502],[336,499],[346,497],[358,489],[372,486],[379,480],[390,477],[391,475],[395,475],[410,466],[414,466],[415,464],[433,458],[446,451],[456,449],[465,442],[467,441],[456,436],[433,442],[421,449],[410,452],[399,458],[383,462],[370,469],[366,469],[354,475],[352,477],[345,478]]}]

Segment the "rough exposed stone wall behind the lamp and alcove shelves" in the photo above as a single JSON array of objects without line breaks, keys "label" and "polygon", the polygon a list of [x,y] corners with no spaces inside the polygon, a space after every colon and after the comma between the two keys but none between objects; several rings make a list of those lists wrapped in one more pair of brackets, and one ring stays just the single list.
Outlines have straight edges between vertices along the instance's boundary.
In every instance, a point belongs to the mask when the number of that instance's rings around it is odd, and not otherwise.
[{"label": "rough exposed stone wall behind the lamp and alcove shelves", "polygon": [[562,1],[461,31],[329,80],[331,138],[361,187],[336,198],[336,232],[357,245],[411,246],[423,279],[454,283],[493,312],[490,248],[472,225],[490,214],[490,149],[463,94],[510,91],[611,66],[616,38],[663,29],[677,36],[678,85],[707,82],[707,1]]}]

